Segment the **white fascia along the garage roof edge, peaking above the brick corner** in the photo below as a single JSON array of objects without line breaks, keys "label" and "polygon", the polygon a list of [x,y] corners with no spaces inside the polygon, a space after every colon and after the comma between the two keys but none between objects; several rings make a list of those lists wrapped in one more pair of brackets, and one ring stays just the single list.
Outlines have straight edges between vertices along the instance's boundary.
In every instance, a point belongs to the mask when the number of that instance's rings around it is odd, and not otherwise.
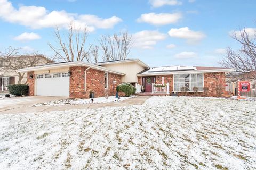
[{"label": "white fascia along the garage roof edge, peaking above the brick corner", "polygon": [[42,70],[47,70],[47,69],[48,70],[59,69],[59,68],[63,68],[63,67],[73,67],[73,66],[86,66],[86,67],[91,66],[91,68],[93,68],[95,70],[105,71],[105,72],[109,72],[109,73],[113,73],[113,74],[117,74],[117,75],[125,75],[124,73],[115,72],[115,71],[106,69],[105,67],[102,67],[102,66],[86,64],[83,62],[67,62],[67,63],[49,64],[49,65],[42,65],[42,66],[36,66],[36,67],[28,67],[28,68],[24,68],[24,69],[19,69],[17,71],[21,72],[21,73],[26,73],[29,71],[42,71]]}]

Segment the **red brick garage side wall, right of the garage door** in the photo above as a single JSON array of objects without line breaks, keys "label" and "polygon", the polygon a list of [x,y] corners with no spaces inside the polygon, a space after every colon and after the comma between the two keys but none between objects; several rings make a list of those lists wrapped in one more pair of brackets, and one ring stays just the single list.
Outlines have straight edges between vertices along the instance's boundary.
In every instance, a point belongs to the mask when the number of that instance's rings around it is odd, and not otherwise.
[{"label": "red brick garage side wall, right of the garage door", "polygon": [[[90,91],[94,91],[95,97],[105,96],[105,72],[88,69],[86,71],[86,88],[84,84],[84,72],[87,68],[83,66],[70,67],[72,75],[69,79],[69,97],[74,98],[89,98]],[[109,95],[113,95],[113,81],[116,80],[117,84],[114,84],[114,94],[116,92],[116,86],[121,83],[121,75],[108,74],[108,91]]]}]

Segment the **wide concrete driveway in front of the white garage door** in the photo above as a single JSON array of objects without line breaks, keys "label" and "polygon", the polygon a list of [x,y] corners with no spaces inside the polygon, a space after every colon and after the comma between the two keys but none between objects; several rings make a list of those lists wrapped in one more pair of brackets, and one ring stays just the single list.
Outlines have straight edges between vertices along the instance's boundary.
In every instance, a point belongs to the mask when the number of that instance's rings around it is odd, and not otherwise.
[{"label": "wide concrete driveway in front of the white garage door", "polygon": [[30,97],[10,97],[0,99],[0,113],[11,109],[29,107],[38,103],[67,99],[68,97],[52,96],[30,96]]}]

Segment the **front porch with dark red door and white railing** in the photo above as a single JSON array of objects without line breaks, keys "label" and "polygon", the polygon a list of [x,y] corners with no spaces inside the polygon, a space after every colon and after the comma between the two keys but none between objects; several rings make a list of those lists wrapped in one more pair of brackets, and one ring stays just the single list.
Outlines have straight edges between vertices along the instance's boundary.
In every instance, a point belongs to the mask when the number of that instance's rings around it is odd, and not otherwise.
[{"label": "front porch with dark red door and white railing", "polygon": [[165,83],[164,77],[141,77],[141,82],[136,84],[136,94],[139,96],[170,95],[170,84]]}]

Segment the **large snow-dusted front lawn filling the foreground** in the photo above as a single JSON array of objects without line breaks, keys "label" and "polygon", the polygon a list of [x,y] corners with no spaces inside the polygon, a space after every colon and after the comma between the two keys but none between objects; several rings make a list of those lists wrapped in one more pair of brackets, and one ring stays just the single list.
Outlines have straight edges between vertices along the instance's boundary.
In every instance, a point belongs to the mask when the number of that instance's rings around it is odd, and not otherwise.
[{"label": "large snow-dusted front lawn filling the foreground", "polygon": [[2,169],[255,169],[256,102],[151,97],[143,105],[0,115]]}]

